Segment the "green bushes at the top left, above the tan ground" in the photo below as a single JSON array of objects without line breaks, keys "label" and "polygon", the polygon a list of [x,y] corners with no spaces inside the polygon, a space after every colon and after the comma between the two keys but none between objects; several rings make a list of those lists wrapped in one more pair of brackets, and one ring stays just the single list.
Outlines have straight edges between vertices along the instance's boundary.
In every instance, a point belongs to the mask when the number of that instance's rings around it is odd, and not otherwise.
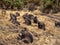
[{"label": "green bushes at the top left, above the tan ground", "polygon": [[14,9],[16,7],[17,9],[22,9],[24,6],[24,3],[22,0],[1,0],[3,8],[5,9]]}]

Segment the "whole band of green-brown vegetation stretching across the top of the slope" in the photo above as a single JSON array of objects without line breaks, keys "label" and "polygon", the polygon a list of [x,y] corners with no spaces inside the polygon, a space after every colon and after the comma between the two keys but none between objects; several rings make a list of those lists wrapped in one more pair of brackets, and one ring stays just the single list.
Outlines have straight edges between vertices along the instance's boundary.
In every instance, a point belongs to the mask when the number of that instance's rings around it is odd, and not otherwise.
[{"label": "whole band of green-brown vegetation stretching across the top of the slope", "polygon": [[[26,5],[40,6],[42,12],[49,13],[60,11],[60,0],[0,0],[6,9],[23,9]],[[29,6],[30,7],[30,6]],[[28,7],[27,7],[28,8]]]}]

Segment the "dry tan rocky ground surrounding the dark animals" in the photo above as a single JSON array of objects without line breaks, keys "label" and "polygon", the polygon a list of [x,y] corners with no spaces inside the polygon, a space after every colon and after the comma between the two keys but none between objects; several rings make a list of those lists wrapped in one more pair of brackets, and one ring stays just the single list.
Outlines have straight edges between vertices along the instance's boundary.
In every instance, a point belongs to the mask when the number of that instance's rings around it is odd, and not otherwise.
[{"label": "dry tan rocky ground surrounding the dark animals", "polygon": [[[39,10],[29,11],[11,11],[7,10],[6,15],[2,15],[0,10],[0,45],[60,45],[60,27],[55,26],[55,21],[60,21],[60,13],[58,14],[41,14]],[[20,16],[17,18],[20,26],[12,24],[10,13],[19,12]],[[28,26],[24,24],[22,16],[25,13],[33,14],[38,17],[38,20],[45,23],[46,30],[38,29],[37,24],[32,23]],[[33,36],[32,43],[24,43],[18,40],[18,34],[23,28],[27,28],[28,32]]]}]

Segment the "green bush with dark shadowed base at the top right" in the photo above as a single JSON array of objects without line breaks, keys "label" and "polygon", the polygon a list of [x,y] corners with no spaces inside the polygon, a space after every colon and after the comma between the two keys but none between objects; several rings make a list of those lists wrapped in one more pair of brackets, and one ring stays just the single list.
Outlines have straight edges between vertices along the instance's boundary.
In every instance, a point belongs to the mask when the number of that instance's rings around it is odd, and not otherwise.
[{"label": "green bush with dark shadowed base at the top right", "polygon": [[60,0],[41,0],[40,5],[42,12],[45,13],[49,13],[51,10],[54,13],[60,11]]}]

